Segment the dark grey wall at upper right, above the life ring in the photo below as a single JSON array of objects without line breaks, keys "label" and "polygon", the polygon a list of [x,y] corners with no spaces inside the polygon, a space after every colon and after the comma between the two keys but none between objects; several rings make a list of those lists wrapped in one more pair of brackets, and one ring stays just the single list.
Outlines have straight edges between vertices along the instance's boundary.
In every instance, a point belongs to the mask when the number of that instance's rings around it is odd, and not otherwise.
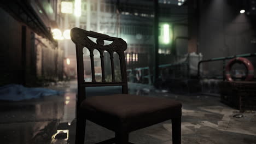
[{"label": "dark grey wall at upper right, above the life ring", "polygon": [[[240,3],[200,1],[198,52],[203,59],[256,52],[253,16],[240,14]],[[254,15],[255,17],[255,15]]]}]

